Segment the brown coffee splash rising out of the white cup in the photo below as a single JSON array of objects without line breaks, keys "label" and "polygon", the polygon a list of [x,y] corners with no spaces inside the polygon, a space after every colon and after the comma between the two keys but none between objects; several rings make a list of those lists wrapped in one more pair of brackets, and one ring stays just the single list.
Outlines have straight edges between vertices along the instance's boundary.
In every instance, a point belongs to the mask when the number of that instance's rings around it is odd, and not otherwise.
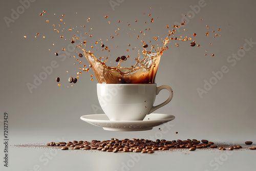
[{"label": "brown coffee splash rising out of the white cup", "polygon": [[108,67],[105,62],[99,61],[93,52],[83,50],[84,55],[90,62],[96,78],[99,83],[155,83],[155,77],[163,51],[168,49],[165,45],[169,42],[168,37],[164,39],[164,45],[157,50],[157,53],[151,51],[142,51],[144,58],[139,61],[139,57],[135,66],[130,68],[119,67],[121,60],[117,67]]}]

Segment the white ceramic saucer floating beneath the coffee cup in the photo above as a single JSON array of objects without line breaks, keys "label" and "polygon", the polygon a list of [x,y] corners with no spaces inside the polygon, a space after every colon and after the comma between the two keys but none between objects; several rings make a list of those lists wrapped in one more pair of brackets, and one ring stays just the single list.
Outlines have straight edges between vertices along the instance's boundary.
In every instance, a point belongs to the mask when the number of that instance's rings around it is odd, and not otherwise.
[{"label": "white ceramic saucer floating beneath the coffee cup", "polygon": [[110,121],[105,114],[94,114],[81,116],[80,119],[92,125],[101,126],[104,130],[108,131],[146,131],[152,130],[154,126],[174,120],[175,116],[152,113],[147,115],[144,120]]}]

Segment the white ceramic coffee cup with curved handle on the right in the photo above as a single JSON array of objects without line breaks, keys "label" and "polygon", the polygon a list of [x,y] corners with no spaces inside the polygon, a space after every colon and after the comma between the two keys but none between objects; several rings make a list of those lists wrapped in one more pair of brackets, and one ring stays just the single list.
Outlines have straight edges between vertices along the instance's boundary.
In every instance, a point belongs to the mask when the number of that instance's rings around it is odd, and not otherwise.
[{"label": "white ceramic coffee cup with curved handle on the right", "polygon": [[[168,99],[154,106],[156,95],[163,89],[169,91]],[[97,83],[97,95],[102,110],[110,120],[131,121],[143,120],[147,114],[170,102],[173,98],[173,90],[169,86],[157,87],[156,83]]]}]

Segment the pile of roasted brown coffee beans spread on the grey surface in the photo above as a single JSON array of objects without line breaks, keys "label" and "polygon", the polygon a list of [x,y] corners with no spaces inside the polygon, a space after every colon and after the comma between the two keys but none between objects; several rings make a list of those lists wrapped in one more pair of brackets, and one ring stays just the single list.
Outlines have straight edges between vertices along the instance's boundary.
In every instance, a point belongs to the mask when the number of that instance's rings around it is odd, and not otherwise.
[{"label": "pile of roasted brown coffee beans spread on the grey surface", "polygon": [[[246,142],[246,144],[250,144]],[[252,144],[252,142],[251,142]],[[99,141],[92,140],[89,141],[69,141],[69,142],[50,142],[47,143],[48,146],[62,146],[62,150],[67,149],[94,149],[104,152],[136,152],[136,153],[154,153],[154,151],[169,151],[176,148],[188,148],[189,151],[195,151],[198,148],[219,148],[220,150],[226,150],[223,146],[214,145],[214,142],[209,142],[208,140],[198,141],[196,139],[190,140],[173,140],[167,141],[165,139],[156,141],[151,141],[147,139],[123,139],[118,140],[112,138],[111,140]],[[240,149],[241,145],[229,146],[229,150]],[[256,149],[256,147],[249,147],[249,149]]]}]

